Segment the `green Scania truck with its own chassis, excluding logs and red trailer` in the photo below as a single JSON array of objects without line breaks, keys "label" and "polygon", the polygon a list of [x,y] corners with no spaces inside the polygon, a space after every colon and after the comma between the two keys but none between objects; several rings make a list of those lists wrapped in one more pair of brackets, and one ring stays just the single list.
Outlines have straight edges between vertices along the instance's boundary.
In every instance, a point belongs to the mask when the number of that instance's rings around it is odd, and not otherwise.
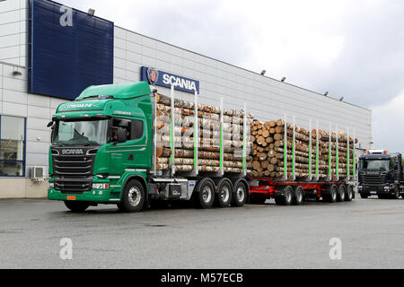
[{"label": "green Scania truck with its own chassis, excluding logs and red trailer", "polygon": [[146,82],[91,86],[74,101],[61,104],[48,124],[48,199],[64,201],[75,212],[97,204],[137,212],[160,200],[193,199],[202,208],[214,202],[245,204],[245,170],[156,170],[155,92]]}]

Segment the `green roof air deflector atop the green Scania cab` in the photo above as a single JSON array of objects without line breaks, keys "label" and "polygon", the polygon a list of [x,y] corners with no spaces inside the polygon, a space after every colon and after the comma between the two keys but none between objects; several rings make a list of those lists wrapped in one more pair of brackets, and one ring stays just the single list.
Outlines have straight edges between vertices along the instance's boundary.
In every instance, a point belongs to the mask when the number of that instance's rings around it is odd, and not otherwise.
[{"label": "green roof air deflector atop the green Scania cab", "polygon": [[125,100],[149,95],[151,93],[150,86],[146,82],[103,84],[88,87],[75,100],[96,96],[113,96],[114,99]]}]

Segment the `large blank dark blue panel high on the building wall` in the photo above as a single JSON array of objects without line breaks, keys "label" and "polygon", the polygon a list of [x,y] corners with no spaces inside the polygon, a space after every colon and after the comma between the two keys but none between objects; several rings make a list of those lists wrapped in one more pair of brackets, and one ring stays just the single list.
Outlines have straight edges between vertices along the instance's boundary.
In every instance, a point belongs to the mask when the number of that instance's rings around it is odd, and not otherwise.
[{"label": "large blank dark blue panel high on the building wall", "polygon": [[74,100],[113,83],[113,22],[48,0],[31,0],[30,15],[29,92]]}]

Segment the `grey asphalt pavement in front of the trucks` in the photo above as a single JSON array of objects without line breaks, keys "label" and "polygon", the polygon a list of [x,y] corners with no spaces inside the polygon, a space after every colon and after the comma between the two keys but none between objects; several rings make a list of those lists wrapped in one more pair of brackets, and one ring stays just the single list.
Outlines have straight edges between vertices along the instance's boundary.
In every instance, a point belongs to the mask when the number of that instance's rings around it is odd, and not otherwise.
[{"label": "grey asphalt pavement in front of the trucks", "polygon": [[141,213],[0,200],[0,268],[404,268],[404,200],[357,197]]}]

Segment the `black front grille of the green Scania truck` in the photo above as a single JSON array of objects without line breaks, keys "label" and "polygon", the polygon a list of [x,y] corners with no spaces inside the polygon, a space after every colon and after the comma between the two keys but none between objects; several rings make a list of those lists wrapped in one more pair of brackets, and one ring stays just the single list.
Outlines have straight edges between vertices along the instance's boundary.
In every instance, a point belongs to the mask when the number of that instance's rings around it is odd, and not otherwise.
[{"label": "black front grille of the green Scania truck", "polygon": [[[64,150],[70,151],[66,154]],[[79,151],[75,154],[71,151]],[[55,189],[62,194],[82,194],[92,189],[92,170],[97,149],[55,148],[52,147],[52,163],[55,176]]]}]

